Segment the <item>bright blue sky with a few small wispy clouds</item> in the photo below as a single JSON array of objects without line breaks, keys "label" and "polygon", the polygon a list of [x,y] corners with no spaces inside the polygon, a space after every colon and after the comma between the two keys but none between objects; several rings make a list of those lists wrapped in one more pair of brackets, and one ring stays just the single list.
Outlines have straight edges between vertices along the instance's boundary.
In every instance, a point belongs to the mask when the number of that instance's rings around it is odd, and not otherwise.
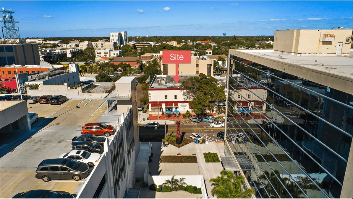
[{"label": "bright blue sky with a few small wispy clouds", "polygon": [[[353,27],[353,1],[4,1],[21,37],[274,35]],[[3,24],[1,24],[3,26]]]}]

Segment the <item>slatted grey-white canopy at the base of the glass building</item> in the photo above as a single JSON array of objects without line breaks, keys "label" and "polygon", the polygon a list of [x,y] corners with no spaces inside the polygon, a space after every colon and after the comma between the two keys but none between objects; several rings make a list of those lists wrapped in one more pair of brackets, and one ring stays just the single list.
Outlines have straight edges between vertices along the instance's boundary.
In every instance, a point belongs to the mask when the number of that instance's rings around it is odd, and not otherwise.
[{"label": "slatted grey-white canopy at the base of the glass building", "polygon": [[[241,170],[254,170],[251,162],[246,155],[236,155],[238,164],[240,165]],[[226,171],[239,171],[238,164],[235,162],[235,159],[231,155],[221,156],[222,164],[224,170]]]}]

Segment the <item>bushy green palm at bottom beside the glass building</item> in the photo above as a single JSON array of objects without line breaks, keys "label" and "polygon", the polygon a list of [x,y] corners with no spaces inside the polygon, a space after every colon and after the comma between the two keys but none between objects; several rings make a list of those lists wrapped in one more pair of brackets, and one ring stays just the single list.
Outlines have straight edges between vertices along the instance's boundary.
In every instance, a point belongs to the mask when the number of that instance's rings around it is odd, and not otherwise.
[{"label": "bushy green palm at bottom beside the glass building", "polygon": [[255,194],[254,189],[244,189],[245,178],[242,175],[235,176],[230,171],[222,170],[220,176],[210,179],[215,185],[211,194],[217,198],[250,198]]}]

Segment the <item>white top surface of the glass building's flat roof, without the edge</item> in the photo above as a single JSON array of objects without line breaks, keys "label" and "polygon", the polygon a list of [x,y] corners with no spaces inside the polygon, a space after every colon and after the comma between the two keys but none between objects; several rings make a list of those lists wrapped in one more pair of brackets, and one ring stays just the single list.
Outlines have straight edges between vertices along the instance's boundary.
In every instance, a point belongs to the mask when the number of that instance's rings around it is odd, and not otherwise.
[{"label": "white top surface of the glass building's flat roof, without the edge", "polygon": [[[323,71],[353,79],[353,56],[333,54],[291,55],[275,50],[236,50],[271,60],[277,60],[302,67]],[[251,61],[251,60],[250,60]]]}]

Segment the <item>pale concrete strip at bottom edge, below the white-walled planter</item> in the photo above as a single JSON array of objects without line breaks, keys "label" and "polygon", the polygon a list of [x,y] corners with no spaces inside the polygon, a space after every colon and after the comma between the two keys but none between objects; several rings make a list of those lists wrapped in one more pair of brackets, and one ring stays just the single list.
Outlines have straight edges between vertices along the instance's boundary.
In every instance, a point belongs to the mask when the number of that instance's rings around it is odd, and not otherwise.
[{"label": "pale concrete strip at bottom edge, below the white-walled planter", "polygon": [[156,192],[147,187],[141,188],[140,198],[199,198],[202,194],[193,194],[186,191]]}]

